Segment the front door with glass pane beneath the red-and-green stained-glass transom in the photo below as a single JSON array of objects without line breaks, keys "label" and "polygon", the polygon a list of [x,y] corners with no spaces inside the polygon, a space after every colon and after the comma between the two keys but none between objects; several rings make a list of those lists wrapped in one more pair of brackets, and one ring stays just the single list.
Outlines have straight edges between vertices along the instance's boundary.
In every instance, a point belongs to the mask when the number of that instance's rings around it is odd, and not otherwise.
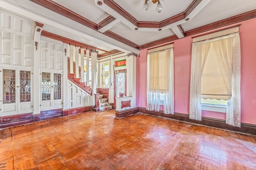
[{"label": "front door with glass pane beneath the red-and-green stained-glass transom", "polygon": [[116,97],[126,96],[126,69],[114,71],[114,108]]}]

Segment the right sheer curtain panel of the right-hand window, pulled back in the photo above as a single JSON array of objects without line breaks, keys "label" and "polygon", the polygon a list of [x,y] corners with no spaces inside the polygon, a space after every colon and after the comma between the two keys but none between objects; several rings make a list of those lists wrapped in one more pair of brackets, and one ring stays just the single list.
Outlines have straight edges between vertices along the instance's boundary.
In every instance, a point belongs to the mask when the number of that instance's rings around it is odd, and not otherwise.
[{"label": "right sheer curtain panel of the right-hand window, pulled back", "polygon": [[228,96],[226,123],[241,127],[241,51],[239,33],[212,41]]}]

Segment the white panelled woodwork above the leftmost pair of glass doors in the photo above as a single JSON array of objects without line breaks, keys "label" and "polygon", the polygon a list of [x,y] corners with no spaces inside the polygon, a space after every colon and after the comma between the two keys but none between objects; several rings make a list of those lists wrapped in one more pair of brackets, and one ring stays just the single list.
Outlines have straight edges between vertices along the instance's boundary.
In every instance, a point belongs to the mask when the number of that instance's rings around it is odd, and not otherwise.
[{"label": "white panelled woodwork above the leftmost pair of glass doors", "polygon": [[0,63],[33,66],[35,23],[0,10]]}]

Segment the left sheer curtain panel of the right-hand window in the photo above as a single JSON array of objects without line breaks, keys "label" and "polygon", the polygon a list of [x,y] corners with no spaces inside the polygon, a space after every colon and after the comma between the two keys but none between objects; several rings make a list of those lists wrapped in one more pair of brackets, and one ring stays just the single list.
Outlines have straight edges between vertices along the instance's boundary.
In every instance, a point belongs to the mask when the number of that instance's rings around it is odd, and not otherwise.
[{"label": "left sheer curtain panel of the right-hand window", "polygon": [[210,42],[192,44],[189,118],[201,120],[201,80]]}]

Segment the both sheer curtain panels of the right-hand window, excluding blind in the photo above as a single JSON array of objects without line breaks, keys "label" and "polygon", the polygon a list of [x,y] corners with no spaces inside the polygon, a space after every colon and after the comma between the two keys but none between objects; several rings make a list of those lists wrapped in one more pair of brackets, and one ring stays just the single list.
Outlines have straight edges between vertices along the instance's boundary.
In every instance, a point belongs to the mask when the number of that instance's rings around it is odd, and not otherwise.
[{"label": "both sheer curtain panels of the right-hand window, excluding blind", "polygon": [[241,127],[240,70],[241,51],[239,33],[192,44],[190,77],[190,119],[201,120],[201,79],[210,45],[214,46],[222,78],[228,91],[226,123]]}]

